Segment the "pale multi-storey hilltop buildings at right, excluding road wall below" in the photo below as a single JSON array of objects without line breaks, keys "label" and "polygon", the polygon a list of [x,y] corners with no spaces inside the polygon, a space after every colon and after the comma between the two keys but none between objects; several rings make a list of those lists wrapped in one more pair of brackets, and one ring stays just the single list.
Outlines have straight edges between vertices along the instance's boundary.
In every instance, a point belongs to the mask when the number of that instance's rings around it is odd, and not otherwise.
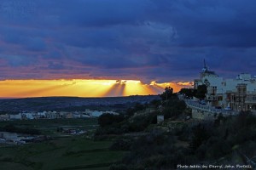
[{"label": "pale multi-storey hilltop buildings at right, excluding road wall below", "polygon": [[209,71],[205,64],[200,78],[194,81],[194,88],[203,84],[207,86],[207,105],[233,111],[256,111],[256,77],[241,73],[234,79],[224,79]]}]

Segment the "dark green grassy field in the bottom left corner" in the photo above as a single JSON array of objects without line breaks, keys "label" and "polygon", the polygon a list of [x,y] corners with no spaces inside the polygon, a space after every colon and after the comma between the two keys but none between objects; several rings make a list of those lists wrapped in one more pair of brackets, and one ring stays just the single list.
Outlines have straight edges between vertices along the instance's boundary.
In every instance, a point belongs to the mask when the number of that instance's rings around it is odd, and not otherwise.
[{"label": "dark green grassy field in the bottom left corner", "polygon": [[125,154],[109,150],[111,144],[111,141],[92,141],[79,136],[2,147],[0,169],[108,169]]}]

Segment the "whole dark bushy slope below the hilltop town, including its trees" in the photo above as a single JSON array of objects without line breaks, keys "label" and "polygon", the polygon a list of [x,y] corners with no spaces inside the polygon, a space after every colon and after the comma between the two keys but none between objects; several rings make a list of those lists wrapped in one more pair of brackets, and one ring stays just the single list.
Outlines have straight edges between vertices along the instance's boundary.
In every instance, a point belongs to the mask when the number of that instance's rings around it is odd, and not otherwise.
[{"label": "whole dark bushy slope below the hilltop town, including its trees", "polygon": [[[176,94],[167,94],[167,99],[165,93],[161,96],[162,101],[137,105],[125,116],[99,118],[95,138],[114,138],[112,150],[129,151],[111,170],[177,169],[178,164],[253,167],[256,117],[250,112],[233,117],[220,115],[212,121],[186,120],[189,110]],[[148,107],[154,111],[147,111]],[[157,124],[156,116],[160,114],[167,120]]]}]

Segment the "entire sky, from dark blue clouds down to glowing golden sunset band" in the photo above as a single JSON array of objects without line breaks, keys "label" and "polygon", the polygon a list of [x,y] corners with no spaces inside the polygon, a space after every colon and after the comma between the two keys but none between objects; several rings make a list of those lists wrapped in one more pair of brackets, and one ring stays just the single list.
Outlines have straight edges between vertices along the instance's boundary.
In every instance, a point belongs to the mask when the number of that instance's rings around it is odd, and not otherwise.
[{"label": "entire sky, from dark blue clouds down to glowing golden sunset band", "polygon": [[254,0],[0,0],[0,98],[160,94],[191,87],[203,59],[222,77],[256,75],[255,8]]}]

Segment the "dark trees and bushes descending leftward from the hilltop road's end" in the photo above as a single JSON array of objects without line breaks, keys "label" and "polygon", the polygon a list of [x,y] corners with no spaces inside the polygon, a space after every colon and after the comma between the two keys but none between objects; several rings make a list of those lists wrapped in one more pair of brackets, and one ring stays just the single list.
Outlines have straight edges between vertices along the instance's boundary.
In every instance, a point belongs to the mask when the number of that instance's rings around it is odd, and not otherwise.
[{"label": "dark trees and bushes descending leftward from the hilltop road's end", "polygon": [[[150,104],[137,104],[128,109],[125,115],[105,114],[100,116],[98,119],[100,127],[96,130],[96,138],[111,134],[142,133],[150,125],[157,123],[158,114],[163,114],[165,119],[175,119],[177,116],[183,115],[186,104],[177,98],[177,94],[172,94],[172,88],[166,88],[166,91],[160,96],[163,102],[153,100]],[[163,109],[160,111],[159,108]]]}]

